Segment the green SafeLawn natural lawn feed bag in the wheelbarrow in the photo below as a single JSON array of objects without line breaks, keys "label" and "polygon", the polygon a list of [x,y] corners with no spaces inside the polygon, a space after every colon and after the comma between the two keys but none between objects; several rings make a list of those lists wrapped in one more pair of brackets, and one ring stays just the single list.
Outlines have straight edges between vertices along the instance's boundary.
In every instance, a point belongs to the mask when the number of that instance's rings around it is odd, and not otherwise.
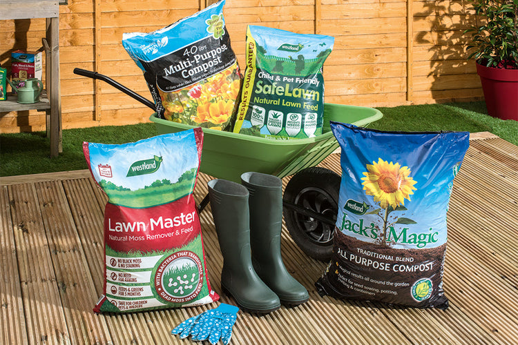
[{"label": "green SafeLawn natural lawn feed bag in the wheelbarrow", "polygon": [[233,131],[274,139],[322,134],[322,68],[334,38],[248,26],[247,68]]}]

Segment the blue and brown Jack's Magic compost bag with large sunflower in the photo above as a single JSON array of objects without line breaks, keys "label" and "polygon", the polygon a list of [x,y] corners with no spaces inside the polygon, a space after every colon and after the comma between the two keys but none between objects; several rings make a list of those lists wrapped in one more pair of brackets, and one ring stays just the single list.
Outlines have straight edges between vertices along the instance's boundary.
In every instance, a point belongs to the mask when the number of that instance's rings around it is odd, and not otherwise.
[{"label": "blue and brown Jack's Magic compost bag with large sunflower", "polygon": [[342,150],[334,253],[320,295],[448,308],[446,213],[469,132],[331,123]]}]

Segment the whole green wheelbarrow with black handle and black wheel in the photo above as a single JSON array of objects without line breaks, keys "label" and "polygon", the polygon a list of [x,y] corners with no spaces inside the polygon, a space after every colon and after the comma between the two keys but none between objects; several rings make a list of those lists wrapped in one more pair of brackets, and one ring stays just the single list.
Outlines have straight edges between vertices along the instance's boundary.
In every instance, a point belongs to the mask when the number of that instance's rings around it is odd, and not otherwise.
[{"label": "whole green wheelbarrow with black handle and black wheel", "polygon": [[[75,74],[106,81],[155,110],[155,104],[97,72],[75,68]],[[340,175],[318,167],[338,148],[329,121],[367,126],[383,115],[374,108],[324,104],[323,134],[318,137],[273,140],[202,128],[204,132],[200,171],[218,179],[240,182],[243,172],[262,172],[283,178],[291,176],[282,197],[283,215],[291,238],[309,257],[327,261],[332,254],[334,224],[338,213]],[[158,134],[189,130],[193,126],[149,117]],[[198,206],[209,203],[208,195]]]}]

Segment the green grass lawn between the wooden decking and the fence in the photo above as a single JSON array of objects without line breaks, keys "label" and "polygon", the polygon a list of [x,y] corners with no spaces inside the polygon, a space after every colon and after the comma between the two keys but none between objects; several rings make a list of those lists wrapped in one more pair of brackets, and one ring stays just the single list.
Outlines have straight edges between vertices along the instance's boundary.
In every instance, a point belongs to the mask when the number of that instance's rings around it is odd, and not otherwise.
[{"label": "green grass lawn between the wooden decking and the fence", "polygon": [[[445,103],[378,108],[383,118],[369,127],[379,130],[492,132],[518,145],[518,121],[487,115],[486,103]],[[44,132],[0,135],[0,176],[86,169],[82,143],[124,144],[157,135],[155,124],[63,130],[63,152],[50,158]]]}]

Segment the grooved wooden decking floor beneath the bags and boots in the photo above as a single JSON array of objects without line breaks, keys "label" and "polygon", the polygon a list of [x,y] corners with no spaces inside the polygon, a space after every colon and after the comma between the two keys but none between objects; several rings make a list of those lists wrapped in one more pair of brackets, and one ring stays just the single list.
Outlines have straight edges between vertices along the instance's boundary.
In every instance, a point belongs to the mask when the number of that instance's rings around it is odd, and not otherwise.
[{"label": "grooved wooden decking floor beneath the bags and boots", "polygon": [[[233,344],[517,344],[518,147],[473,135],[448,213],[447,311],[319,297],[325,264],[287,234],[282,254],[309,302],[264,317],[240,313]],[[339,171],[339,155],[322,166]],[[198,201],[210,177],[200,174]],[[106,198],[89,172],[7,177],[0,194],[3,344],[175,344],[171,329],[209,306],[95,315],[103,286]],[[222,257],[210,210],[201,215],[209,279],[221,293]],[[233,303],[221,294],[221,302]]]}]

